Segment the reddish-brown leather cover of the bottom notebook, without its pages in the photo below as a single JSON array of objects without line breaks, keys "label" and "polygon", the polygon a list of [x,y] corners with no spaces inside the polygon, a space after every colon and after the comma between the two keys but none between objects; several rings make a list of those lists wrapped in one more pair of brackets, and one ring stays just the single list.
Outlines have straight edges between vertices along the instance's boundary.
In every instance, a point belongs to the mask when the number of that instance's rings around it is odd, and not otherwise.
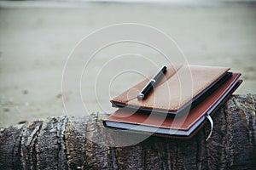
[{"label": "reddish-brown leather cover of the bottom notebook, without its pages", "polygon": [[[192,127],[196,122],[198,122],[202,116],[207,115],[207,111],[212,109],[212,106],[215,105],[219,99],[234,85],[234,83],[241,76],[240,73],[233,73],[232,77],[227,82],[218,88],[214,93],[212,93],[207,99],[204,99],[200,105],[195,106],[195,108],[189,111],[188,116],[177,116],[177,118],[173,117],[163,117],[160,114],[154,115],[151,114],[148,116],[147,114],[140,113],[132,113],[129,111],[121,110],[115,111],[112,115],[108,116],[107,119],[103,121],[103,124],[106,126],[105,122],[125,122],[136,125],[144,125],[148,127],[162,127],[166,129],[176,129],[188,131],[190,127]],[[226,96],[226,98],[221,102],[222,105],[226,99],[238,88],[241,84],[241,80],[237,82],[236,86],[230,91],[230,94]],[[218,107],[220,106],[218,105]],[[216,108],[216,110],[218,109]],[[216,111],[215,110],[215,111]],[[214,112],[214,111],[213,111]],[[198,127],[201,127],[199,125]],[[197,132],[198,129],[195,131]],[[194,132],[193,132],[194,133]],[[166,136],[165,134],[156,134],[160,136]],[[167,136],[169,136],[167,134]],[[173,135],[175,136],[175,135]],[[192,136],[192,133],[189,137]]]}]

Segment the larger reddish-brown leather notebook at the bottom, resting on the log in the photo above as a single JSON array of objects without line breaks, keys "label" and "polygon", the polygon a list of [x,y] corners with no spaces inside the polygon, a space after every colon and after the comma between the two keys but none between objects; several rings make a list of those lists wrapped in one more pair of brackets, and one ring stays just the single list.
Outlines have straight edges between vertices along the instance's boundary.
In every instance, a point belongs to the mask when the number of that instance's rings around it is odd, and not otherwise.
[{"label": "larger reddish-brown leather notebook at the bottom, resting on the log", "polygon": [[242,82],[239,80],[240,76],[240,73],[231,74],[227,81],[203,99],[200,104],[195,105],[187,115],[170,117],[159,113],[148,115],[119,109],[108,116],[103,124],[105,127],[154,133],[154,135],[171,138],[190,138],[203,126],[207,116],[212,116],[239,87]]}]

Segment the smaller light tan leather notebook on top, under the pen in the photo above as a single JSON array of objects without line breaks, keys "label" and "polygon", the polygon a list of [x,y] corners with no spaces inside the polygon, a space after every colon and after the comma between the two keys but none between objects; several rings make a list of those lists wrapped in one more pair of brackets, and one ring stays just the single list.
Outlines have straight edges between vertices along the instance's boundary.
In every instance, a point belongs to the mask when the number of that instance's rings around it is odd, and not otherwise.
[{"label": "smaller light tan leather notebook on top, under the pen", "polygon": [[230,68],[201,65],[169,65],[164,77],[148,94],[146,99],[137,99],[137,94],[151,77],[129,88],[111,100],[114,107],[140,112],[160,112],[171,115],[194,106],[197,99],[206,98],[212,87],[221,85],[229,77]]}]

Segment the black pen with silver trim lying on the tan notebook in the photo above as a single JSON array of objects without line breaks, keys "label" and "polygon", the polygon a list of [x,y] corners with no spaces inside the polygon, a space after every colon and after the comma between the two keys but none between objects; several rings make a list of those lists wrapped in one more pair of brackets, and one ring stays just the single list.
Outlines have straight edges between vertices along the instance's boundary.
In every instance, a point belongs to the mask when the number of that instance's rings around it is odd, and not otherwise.
[{"label": "black pen with silver trim lying on the tan notebook", "polygon": [[143,90],[137,94],[137,99],[143,100],[144,98],[147,97],[147,95],[153,90],[153,88],[156,86],[158,82],[160,82],[161,78],[164,76],[166,73],[166,65],[163,66],[156,75],[154,75],[153,78],[146,84],[146,86],[143,88]]}]

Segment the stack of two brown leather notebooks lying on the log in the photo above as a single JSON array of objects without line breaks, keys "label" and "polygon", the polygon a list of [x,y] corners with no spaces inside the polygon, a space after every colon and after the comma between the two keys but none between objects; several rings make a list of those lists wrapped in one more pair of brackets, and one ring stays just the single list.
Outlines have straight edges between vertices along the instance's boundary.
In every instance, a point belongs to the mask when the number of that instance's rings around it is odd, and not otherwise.
[{"label": "stack of two brown leather notebooks lying on the log", "polygon": [[[105,127],[153,133],[170,138],[191,138],[239,87],[240,73],[230,68],[169,65],[143,99],[152,77],[111,100],[119,108],[103,121]],[[155,82],[155,81],[154,81]]]}]

